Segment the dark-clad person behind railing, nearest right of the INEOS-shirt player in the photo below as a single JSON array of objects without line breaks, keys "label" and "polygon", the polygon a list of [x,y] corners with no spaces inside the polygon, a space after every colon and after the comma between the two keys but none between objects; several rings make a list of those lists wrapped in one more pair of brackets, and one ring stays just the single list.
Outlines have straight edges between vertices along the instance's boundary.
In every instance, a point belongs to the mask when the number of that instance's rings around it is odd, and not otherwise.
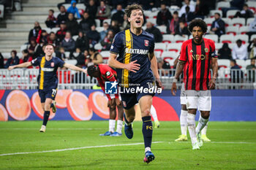
[{"label": "dark-clad person behind railing, nearest right of the INEOS-shirt player", "polygon": [[[242,79],[244,77],[243,72],[241,72],[240,66],[236,63],[236,60],[230,61],[230,78],[231,82],[242,82]],[[232,87],[235,88],[235,87]]]}]

